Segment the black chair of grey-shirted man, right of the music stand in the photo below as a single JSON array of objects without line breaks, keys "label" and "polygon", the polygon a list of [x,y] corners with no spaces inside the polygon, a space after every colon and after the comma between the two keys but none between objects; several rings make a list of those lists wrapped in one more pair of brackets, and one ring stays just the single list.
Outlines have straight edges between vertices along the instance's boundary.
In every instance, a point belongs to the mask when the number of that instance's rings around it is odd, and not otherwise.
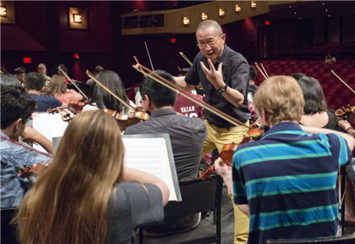
[{"label": "black chair of grey-shirted man, right of the music stand", "polygon": [[[204,228],[202,219],[200,223],[190,231],[174,233],[159,237],[143,236],[144,226],[139,227],[138,243],[221,243],[221,205],[223,179],[214,174],[209,179],[192,179],[179,182],[182,201],[169,201],[164,207],[166,218],[187,216],[190,214],[207,213],[213,211],[216,228],[210,230]],[[137,238],[136,238],[137,239]]]}]

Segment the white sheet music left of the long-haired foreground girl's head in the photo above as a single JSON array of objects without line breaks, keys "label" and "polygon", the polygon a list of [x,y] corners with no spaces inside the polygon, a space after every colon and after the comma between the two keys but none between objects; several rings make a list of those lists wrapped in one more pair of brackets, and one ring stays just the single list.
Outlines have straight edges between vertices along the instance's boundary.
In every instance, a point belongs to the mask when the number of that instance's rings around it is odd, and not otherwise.
[{"label": "white sheet music left of the long-haired foreground girl's head", "polygon": [[[60,113],[38,113],[38,117],[33,118],[33,128],[52,142],[52,138],[64,135],[67,125],[67,122],[62,121]],[[33,144],[33,148],[46,152],[40,145]]]}]

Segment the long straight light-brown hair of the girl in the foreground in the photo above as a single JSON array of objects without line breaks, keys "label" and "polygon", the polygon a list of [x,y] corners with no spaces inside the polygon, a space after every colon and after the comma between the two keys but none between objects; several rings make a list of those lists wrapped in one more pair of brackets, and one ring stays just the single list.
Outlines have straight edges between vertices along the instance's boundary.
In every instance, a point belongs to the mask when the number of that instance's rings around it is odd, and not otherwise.
[{"label": "long straight light-brown hair of the girl in the foreground", "polygon": [[114,118],[97,110],[72,119],[15,218],[21,243],[104,243],[107,204],[123,161]]}]

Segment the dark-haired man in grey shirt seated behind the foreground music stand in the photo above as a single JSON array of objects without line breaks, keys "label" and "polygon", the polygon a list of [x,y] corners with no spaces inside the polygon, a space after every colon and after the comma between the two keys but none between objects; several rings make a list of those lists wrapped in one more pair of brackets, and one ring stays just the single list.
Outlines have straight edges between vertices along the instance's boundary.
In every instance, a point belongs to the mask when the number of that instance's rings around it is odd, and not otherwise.
[{"label": "dark-haired man in grey shirt seated behind the foreground music stand", "polygon": [[[156,74],[175,84],[168,72],[156,70]],[[200,156],[205,138],[206,126],[200,118],[190,118],[177,114],[173,110],[176,92],[164,87],[150,77],[143,79],[139,91],[142,105],[151,117],[143,123],[129,126],[125,135],[168,133],[173,148],[178,179],[193,179],[198,176]],[[146,232],[151,235],[187,231],[200,221],[200,214],[167,220],[156,226],[148,226]],[[147,234],[147,233],[146,233]]]}]

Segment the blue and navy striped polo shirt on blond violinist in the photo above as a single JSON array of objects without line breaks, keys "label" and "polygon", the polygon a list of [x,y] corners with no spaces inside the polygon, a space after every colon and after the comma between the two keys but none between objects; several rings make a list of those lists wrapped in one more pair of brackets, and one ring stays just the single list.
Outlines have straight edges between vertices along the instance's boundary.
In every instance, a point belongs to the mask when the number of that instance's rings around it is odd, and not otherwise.
[{"label": "blue and navy striped polo shirt on blond violinist", "polygon": [[249,204],[248,243],[336,235],[337,172],[350,161],[341,136],[305,133],[292,122],[237,148],[234,202]]}]

